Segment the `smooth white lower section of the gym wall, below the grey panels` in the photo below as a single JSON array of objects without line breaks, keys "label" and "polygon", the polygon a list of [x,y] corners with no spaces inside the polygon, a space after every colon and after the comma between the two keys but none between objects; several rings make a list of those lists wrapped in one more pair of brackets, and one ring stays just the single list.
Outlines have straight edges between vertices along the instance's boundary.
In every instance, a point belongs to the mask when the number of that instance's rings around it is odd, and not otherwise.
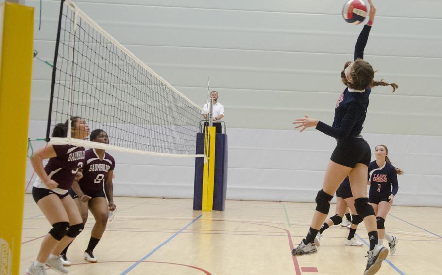
[{"label": "smooth white lower section of the gym wall, below the grey panels", "polygon": [[[29,136],[45,133],[44,121],[31,121]],[[336,145],[320,132],[228,129],[227,199],[313,202]],[[389,148],[398,176],[398,205],[442,206],[442,142],[436,136],[365,134],[372,149]],[[34,148],[43,146],[34,142]],[[109,152],[116,161],[114,194],[192,198],[194,159]],[[374,159],[374,155],[372,155]],[[32,168],[28,162],[27,181]],[[28,188],[28,192],[31,188]]]}]

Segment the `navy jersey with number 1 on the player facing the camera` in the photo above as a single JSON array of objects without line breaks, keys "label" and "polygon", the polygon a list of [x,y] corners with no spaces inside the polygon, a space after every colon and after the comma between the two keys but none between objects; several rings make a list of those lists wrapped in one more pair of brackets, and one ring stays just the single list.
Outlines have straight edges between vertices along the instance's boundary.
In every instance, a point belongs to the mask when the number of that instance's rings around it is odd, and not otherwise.
[{"label": "navy jersey with number 1 on the player facing the camera", "polygon": [[390,163],[385,162],[383,167],[379,167],[376,161],[372,161],[368,167],[368,177],[370,181],[370,198],[386,199],[391,194],[396,195],[399,189],[397,174],[394,166]]}]

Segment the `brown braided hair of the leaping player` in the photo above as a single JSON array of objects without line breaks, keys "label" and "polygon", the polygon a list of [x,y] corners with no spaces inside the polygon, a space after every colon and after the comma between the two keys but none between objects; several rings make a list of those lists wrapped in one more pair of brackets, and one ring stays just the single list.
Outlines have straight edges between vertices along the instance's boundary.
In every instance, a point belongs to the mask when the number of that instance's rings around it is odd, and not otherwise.
[{"label": "brown braided hair of the leaping player", "polygon": [[348,81],[347,76],[345,76],[345,69],[351,64],[351,62],[346,62],[344,65],[344,69],[340,73],[342,78],[342,82],[347,85],[349,88],[356,90],[363,90],[365,88],[372,88],[375,86],[391,86],[393,87],[393,92],[396,91],[399,86],[396,83],[387,83],[384,82],[384,79],[380,81],[374,81],[374,70],[372,65],[369,62],[358,58],[353,62],[353,67],[350,72],[352,76],[353,83]]}]

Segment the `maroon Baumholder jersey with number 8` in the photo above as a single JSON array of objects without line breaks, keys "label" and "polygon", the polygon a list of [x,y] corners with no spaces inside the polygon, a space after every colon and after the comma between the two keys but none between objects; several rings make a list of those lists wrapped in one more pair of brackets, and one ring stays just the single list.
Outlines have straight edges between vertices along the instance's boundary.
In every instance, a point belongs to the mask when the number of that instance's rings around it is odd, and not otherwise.
[{"label": "maroon Baumholder jersey with number 8", "polygon": [[83,192],[96,192],[103,190],[103,183],[107,178],[107,172],[115,168],[114,158],[104,153],[103,160],[100,160],[95,149],[85,151],[85,168],[83,178],[78,182]]}]

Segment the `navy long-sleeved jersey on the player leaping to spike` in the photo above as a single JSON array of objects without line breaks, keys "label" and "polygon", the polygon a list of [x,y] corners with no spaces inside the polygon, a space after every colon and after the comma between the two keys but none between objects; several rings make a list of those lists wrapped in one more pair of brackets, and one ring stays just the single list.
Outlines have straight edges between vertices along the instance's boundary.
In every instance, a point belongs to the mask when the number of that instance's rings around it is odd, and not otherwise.
[{"label": "navy long-sleeved jersey on the player leaping to spike", "polygon": [[[371,26],[365,25],[359,34],[355,45],[355,60],[364,58],[364,48],[367,45],[370,30]],[[358,136],[364,126],[370,92],[371,88],[358,91],[347,87],[336,103],[332,126],[319,121],[316,129],[336,139]]]}]

